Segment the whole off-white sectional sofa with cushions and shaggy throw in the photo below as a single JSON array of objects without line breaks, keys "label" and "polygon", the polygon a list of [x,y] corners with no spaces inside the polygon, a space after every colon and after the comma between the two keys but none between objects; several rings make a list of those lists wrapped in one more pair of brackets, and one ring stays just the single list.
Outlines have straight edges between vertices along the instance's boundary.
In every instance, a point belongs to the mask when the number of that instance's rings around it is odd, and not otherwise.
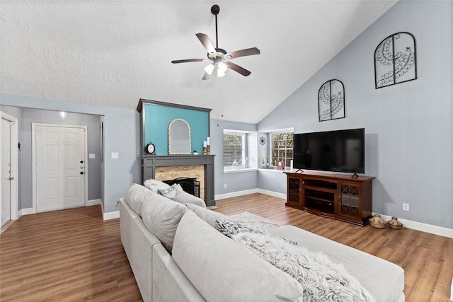
[{"label": "whole off-white sectional sofa with cushions and shaggy throw", "polygon": [[149,188],[134,184],[119,201],[144,301],[405,300],[403,269],[391,262],[294,226],[260,233],[200,199]]}]

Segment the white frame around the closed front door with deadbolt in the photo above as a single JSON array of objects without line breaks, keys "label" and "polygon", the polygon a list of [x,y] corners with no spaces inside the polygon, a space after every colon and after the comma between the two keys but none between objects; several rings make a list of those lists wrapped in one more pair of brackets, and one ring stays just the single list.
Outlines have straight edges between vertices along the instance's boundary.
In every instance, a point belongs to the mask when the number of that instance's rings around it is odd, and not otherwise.
[{"label": "white frame around the closed front door with deadbolt", "polygon": [[88,205],[88,127],[84,125],[77,125],[77,124],[42,124],[42,123],[35,123],[31,124],[31,147],[32,147],[32,158],[31,158],[31,165],[32,165],[32,200],[33,200],[33,214],[36,214],[36,127],[62,127],[62,128],[79,128],[84,129],[84,163],[85,163],[85,192],[84,192],[84,204],[85,207]]}]

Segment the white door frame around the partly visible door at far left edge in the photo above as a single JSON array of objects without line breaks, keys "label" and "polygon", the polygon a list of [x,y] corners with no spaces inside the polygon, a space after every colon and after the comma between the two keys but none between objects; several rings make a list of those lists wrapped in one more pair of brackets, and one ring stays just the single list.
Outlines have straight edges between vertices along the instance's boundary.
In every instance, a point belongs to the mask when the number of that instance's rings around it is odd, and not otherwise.
[{"label": "white door frame around the partly visible door at far left edge", "polygon": [[[18,219],[18,119],[12,115],[0,111],[1,118],[11,122],[11,177],[14,179],[11,180],[11,220]],[[1,135],[1,132],[0,132]],[[17,148],[15,147],[17,146]],[[1,149],[0,149],[1,152]],[[1,186],[0,186],[0,196],[1,196]],[[0,207],[0,216],[1,216],[1,207]],[[1,230],[0,230],[1,233]]]}]

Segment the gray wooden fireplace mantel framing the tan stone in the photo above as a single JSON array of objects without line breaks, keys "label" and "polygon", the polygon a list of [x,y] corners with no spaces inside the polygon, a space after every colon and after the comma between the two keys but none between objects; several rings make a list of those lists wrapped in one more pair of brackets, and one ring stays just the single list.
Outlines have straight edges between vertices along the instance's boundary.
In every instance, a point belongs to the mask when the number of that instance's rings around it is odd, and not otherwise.
[{"label": "gray wooden fireplace mantel framing the tan stone", "polygon": [[154,155],[142,156],[142,181],[155,178],[156,167],[172,165],[205,166],[205,202],[215,206],[214,200],[214,155]]}]

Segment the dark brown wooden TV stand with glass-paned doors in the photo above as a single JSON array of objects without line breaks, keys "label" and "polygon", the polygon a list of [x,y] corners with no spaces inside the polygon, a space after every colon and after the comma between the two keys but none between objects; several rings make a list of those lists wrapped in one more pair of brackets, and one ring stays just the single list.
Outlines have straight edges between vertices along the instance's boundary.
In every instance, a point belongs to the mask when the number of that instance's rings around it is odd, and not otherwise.
[{"label": "dark brown wooden TV stand with glass-paned doors", "polygon": [[285,173],[287,207],[358,226],[365,226],[372,216],[372,177],[311,171]]}]

